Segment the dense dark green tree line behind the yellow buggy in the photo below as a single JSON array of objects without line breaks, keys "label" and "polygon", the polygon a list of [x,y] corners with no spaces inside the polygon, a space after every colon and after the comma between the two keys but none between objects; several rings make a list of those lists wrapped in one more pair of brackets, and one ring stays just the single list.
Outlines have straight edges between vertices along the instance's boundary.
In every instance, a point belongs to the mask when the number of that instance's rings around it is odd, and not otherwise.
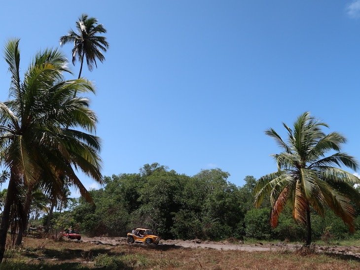
[{"label": "dense dark green tree line behind the yellow buggy", "polygon": [[[139,173],[105,177],[106,185],[90,191],[94,204],[80,199],[72,211],[57,214],[53,226],[77,227],[91,236],[125,236],[135,227],[155,230],[163,238],[304,240],[306,228],[293,220],[286,207],[279,225],[269,223],[270,201],[253,207],[256,179],[245,177],[238,187],[227,181],[229,173],[205,169],[194,176],[179,174],[155,163]],[[312,215],[313,237],[351,236],[348,227],[333,212]],[[46,216],[44,218],[46,222]],[[360,229],[357,215],[356,227]],[[358,235],[355,235],[358,236]]]}]

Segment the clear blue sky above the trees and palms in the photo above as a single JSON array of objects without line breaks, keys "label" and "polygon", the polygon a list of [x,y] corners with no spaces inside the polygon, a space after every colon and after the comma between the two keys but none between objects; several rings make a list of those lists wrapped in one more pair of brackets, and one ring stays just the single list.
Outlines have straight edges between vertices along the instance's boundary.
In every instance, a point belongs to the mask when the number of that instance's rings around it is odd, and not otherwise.
[{"label": "clear blue sky above the trees and palms", "polygon": [[[0,42],[21,38],[25,70],[81,13],[98,18],[110,44],[104,64],[82,73],[97,87],[104,175],[158,162],[187,175],[220,168],[243,185],[276,170],[264,130],[285,135],[281,123],[304,111],[344,134],[343,150],[360,160],[360,0],[6,1]],[[69,59],[71,49],[62,48]],[[9,77],[0,61],[1,101]]]}]

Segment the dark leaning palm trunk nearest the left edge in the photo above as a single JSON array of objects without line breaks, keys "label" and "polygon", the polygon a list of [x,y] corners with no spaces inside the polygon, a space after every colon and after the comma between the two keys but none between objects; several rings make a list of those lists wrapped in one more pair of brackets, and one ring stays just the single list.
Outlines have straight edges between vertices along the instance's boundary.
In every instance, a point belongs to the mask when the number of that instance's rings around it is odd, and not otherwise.
[{"label": "dark leaning palm trunk nearest the left edge", "polygon": [[2,212],[1,217],[1,225],[0,225],[0,263],[4,257],[5,245],[6,245],[6,236],[7,229],[10,225],[10,210],[11,205],[14,202],[16,192],[16,183],[14,173],[11,173],[9,186],[7,188],[6,200],[4,205],[4,210]]}]

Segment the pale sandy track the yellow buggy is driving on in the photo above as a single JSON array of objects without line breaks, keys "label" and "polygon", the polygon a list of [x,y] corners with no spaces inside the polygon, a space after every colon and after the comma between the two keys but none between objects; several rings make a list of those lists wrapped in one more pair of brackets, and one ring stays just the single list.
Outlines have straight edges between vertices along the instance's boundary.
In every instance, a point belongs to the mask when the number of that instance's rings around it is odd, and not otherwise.
[{"label": "pale sandy track the yellow buggy is driving on", "polygon": [[[108,244],[108,245],[127,245],[126,237],[83,237],[81,239],[84,242],[91,242],[94,244]],[[135,243],[133,245],[144,245],[141,243]],[[261,242],[256,244],[243,244],[241,241],[236,243],[230,243],[228,241],[202,241],[200,239],[194,240],[160,240],[156,246],[151,244],[153,248],[214,248],[218,250],[241,250],[241,251],[295,251],[301,248],[301,244],[287,244],[279,242],[276,244],[262,244]],[[319,246],[313,245],[316,252],[319,253],[331,253],[346,256],[349,258],[360,259],[360,247],[357,246]]]}]

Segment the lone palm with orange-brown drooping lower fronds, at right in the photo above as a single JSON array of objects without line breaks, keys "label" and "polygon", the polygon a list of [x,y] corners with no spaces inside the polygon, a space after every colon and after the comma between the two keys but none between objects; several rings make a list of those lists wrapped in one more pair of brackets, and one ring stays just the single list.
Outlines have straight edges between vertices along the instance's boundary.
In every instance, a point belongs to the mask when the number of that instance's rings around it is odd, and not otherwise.
[{"label": "lone palm with orange-brown drooping lower fronds, at right", "polygon": [[[360,194],[354,188],[359,179],[340,168],[356,170],[359,165],[354,157],[340,152],[346,138],[336,132],[326,135],[322,128],[328,126],[309,112],[297,118],[293,130],[283,125],[288,133],[287,141],[271,128],[265,132],[276,140],[283,152],[273,155],[278,171],[262,176],[257,182],[255,207],[270,194],[270,223],[276,227],[288,203],[293,218],[307,225],[306,245],[311,243],[310,207],[323,215],[327,205],[354,231],[355,211],[350,200],[360,204]],[[329,151],[332,154],[326,156]]]}]

